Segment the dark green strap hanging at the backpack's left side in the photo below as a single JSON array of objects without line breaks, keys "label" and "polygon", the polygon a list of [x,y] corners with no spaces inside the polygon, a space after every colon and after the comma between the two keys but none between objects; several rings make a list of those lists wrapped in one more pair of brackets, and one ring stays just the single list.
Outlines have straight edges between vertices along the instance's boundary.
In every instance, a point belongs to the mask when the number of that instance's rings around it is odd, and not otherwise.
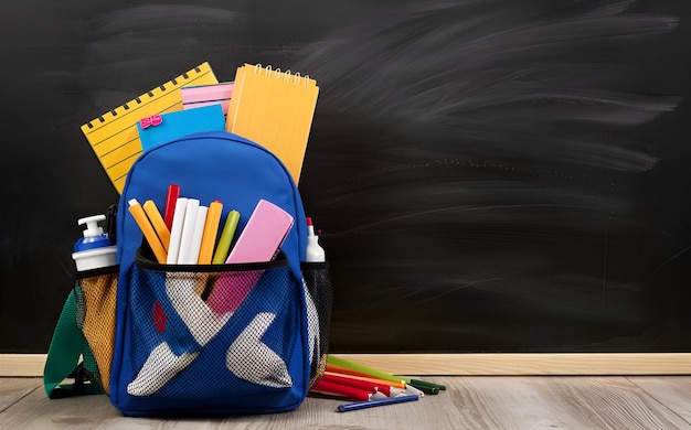
[{"label": "dark green strap hanging at the backpack's left side", "polygon": [[[79,358],[83,361],[79,362]],[[47,351],[43,387],[52,399],[102,394],[104,390],[94,376],[95,372],[96,361],[77,324],[77,291],[73,289],[60,314]],[[74,383],[63,384],[66,378],[74,378]]]}]

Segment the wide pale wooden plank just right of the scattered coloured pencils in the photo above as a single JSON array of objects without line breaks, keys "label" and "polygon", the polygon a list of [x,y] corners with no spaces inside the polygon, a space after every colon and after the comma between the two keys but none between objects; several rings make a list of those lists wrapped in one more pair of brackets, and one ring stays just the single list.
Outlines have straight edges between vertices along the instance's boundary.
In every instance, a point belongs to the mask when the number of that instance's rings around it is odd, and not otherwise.
[{"label": "wide pale wooden plank just right of the scattered coloured pencils", "polygon": [[466,429],[691,429],[624,377],[453,378]]}]

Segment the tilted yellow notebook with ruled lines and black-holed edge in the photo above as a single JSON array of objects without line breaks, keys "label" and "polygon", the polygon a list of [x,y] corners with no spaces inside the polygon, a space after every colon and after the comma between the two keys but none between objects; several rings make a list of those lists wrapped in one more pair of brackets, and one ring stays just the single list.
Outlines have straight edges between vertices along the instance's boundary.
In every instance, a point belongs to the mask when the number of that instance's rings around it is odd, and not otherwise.
[{"label": "tilted yellow notebook with ruled lines and black-holed edge", "polygon": [[127,172],[142,151],[137,122],[152,115],[181,110],[182,86],[217,83],[209,63],[202,63],[82,126],[82,132],[118,193],[123,192]]}]

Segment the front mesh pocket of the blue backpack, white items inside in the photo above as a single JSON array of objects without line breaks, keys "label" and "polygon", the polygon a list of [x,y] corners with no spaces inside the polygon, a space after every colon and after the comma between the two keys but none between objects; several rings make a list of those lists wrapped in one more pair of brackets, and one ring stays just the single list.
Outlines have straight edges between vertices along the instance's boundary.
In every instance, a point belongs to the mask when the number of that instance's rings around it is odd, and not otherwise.
[{"label": "front mesh pocket of the blue backpack, white items inside", "polygon": [[290,273],[285,257],[251,265],[135,265],[124,350],[131,368],[120,384],[127,395],[206,399],[209,406],[290,389],[301,314]]}]

